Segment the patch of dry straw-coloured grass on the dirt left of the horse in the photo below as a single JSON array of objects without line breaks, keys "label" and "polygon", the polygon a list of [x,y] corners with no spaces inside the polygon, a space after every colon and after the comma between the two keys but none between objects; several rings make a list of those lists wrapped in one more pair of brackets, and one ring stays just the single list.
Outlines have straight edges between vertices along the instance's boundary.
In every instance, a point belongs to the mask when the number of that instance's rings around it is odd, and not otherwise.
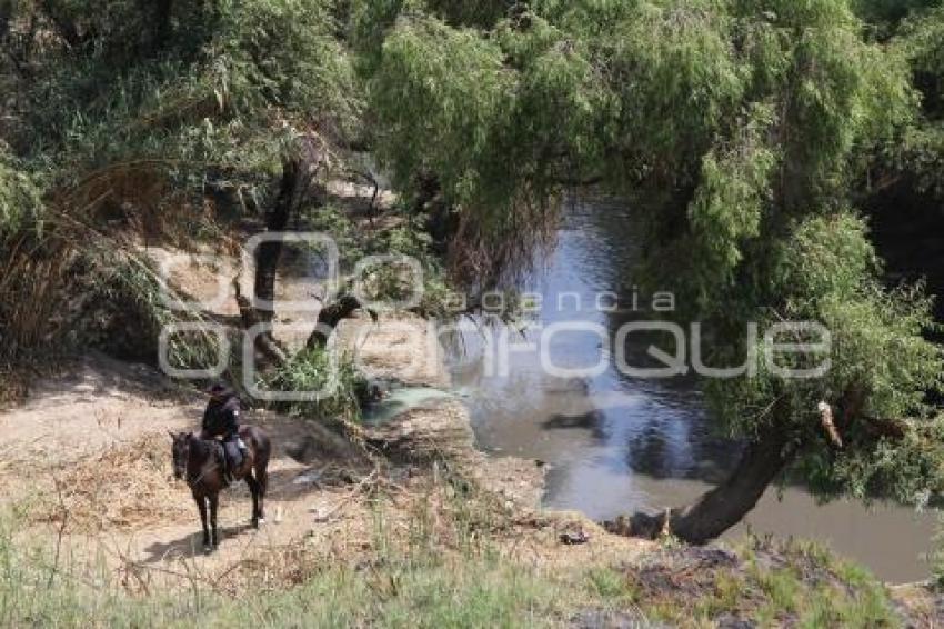
[{"label": "patch of dry straw-coloured grass on the dirt left of the horse", "polygon": [[149,433],[113,446],[54,477],[34,520],[94,533],[134,529],[185,517],[191,500],[181,483],[169,482],[168,438]]}]

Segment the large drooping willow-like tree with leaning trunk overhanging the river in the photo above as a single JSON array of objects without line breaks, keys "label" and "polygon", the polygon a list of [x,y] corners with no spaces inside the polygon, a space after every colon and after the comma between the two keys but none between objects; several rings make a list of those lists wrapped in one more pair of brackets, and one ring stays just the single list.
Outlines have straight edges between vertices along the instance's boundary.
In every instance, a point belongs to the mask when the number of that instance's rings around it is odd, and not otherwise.
[{"label": "large drooping willow-like tree with leaning trunk overhanging the river", "polygon": [[[493,242],[535,229],[566,182],[644,191],[660,199],[646,278],[713,331],[709,365],[743,360],[749,322],[832,331],[821,378],[703,383],[720,429],[746,447],[727,482],[669,513],[675,535],[721,535],[787,469],[824,498],[922,502],[941,489],[930,302],[883,287],[852,207],[916,98],[904,56],[872,43],[846,2],[543,0],[494,21],[430,2],[362,8],[361,21],[383,34],[363,70],[399,187],[431,174]],[[663,518],[639,515],[636,532]]]}]

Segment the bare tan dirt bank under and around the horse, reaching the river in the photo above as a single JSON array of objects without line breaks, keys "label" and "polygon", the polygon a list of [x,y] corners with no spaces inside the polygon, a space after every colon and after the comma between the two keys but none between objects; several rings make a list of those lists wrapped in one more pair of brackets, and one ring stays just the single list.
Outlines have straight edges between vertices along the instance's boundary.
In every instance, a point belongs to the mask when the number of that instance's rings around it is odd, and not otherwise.
[{"label": "bare tan dirt bank under and around the horse, reaching the river", "polygon": [[[360,338],[358,351],[372,376],[402,376],[414,343],[425,342],[422,321],[398,323],[412,326],[414,333],[359,335],[358,327],[372,326],[365,319],[345,326],[342,337]],[[430,360],[413,380],[448,382]],[[460,472],[484,488],[488,503],[503,513],[495,541],[508,555],[570,565],[626,558],[647,547],[606,536],[579,515],[538,510],[542,470],[533,461],[491,460],[476,452],[464,407],[445,400],[368,430],[365,437],[380,450],[371,461],[355,448],[339,448],[319,427],[248,412],[245,421],[262,426],[274,445],[268,521],[250,528],[248,490],[242,485],[227,490],[219,518],[222,545],[204,556],[189,490],[170,478],[167,436],[195,428],[202,403],[199,392],[175,387],[150,368],[98,355],[38,382],[23,406],[0,413],[6,438],[0,490],[2,500],[20,507],[31,522],[22,538],[46,540],[68,561],[102,560],[130,589],[197,579],[235,593],[248,579],[273,587],[301,579],[312,569],[312,556],[359,561],[376,543],[378,509],[390,530],[406,531],[418,505],[449,508],[443,496],[454,492],[442,490],[443,479]],[[381,507],[379,495],[389,498]],[[591,542],[560,545],[560,532],[576,529],[589,532]]]}]

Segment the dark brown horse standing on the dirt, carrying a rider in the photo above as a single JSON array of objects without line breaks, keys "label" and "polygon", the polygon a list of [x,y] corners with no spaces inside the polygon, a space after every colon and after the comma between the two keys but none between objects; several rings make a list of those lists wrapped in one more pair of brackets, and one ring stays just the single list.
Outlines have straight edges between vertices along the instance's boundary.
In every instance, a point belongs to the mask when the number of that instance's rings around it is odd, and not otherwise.
[{"label": "dark brown horse standing on the dirt, carrying a rider", "polygon": [[[193,432],[168,431],[171,439],[171,456],[173,458],[174,478],[185,479],[193,495],[193,500],[200,509],[200,521],[203,525],[203,550],[212,552],[219,545],[217,532],[217,506],[220,491],[228,487],[223,473],[222,457],[224,448],[215,439],[202,439]],[[252,526],[259,528],[265,522],[264,500],[269,485],[269,456],[272,446],[269,437],[255,426],[243,426],[239,436],[247,445],[247,453],[242,463],[232,470],[233,480],[245,480],[252,493]],[[207,508],[210,508],[210,526],[207,525]],[[211,535],[212,533],[212,535]]]}]

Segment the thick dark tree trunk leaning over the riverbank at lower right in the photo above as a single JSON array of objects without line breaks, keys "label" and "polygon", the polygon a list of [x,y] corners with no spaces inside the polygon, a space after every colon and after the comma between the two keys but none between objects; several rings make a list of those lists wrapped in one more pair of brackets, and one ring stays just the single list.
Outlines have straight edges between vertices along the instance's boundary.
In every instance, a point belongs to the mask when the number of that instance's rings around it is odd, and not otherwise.
[{"label": "thick dark tree trunk leaning over the riverbank at lower right", "polygon": [[619,523],[610,523],[607,528],[651,539],[667,531],[687,543],[706,543],[740,522],[756,506],[795,453],[787,430],[776,425],[767,427],[744,450],[731,477],[692,505],[659,516],[636,513],[629,530],[620,530]]}]

